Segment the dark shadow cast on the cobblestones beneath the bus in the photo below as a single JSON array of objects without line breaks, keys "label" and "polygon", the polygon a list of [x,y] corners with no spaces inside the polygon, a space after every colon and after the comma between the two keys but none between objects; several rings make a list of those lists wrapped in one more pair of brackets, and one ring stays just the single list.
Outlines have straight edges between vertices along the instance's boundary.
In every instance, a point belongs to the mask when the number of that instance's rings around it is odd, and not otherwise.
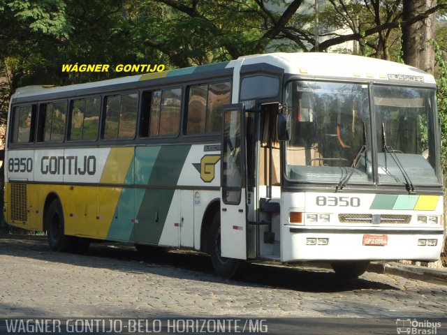
[{"label": "dark shadow cast on the cobblestones beneath the bus", "polygon": [[[264,286],[302,292],[343,292],[350,290],[400,290],[392,285],[368,279],[369,275],[346,280],[332,271],[313,267],[284,267],[250,264],[241,281],[228,281],[214,275],[207,255],[193,252],[155,249],[142,254],[132,245],[93,243],[85,255],[56,253],[47,246],[46,237],[0,235],[0,253],[34,258],[46,262],[62,262],[85,267],[101,267],[128,272],[147,272],[191,280],[232,285]],[[172,271],[178,269],[178,271]]]}]

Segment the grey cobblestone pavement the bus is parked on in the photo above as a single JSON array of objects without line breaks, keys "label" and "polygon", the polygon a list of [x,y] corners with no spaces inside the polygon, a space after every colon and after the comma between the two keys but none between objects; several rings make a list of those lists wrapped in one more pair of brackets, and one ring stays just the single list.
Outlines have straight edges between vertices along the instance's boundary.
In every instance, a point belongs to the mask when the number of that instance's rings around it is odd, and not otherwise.
[{"label": "grey cobblestone pavement the bus is parked on", "polygon": [[344,281],[309,267],[251,265],[244,281],[210,259],[93,244],[54,253],[44,237],[0,237],[0,315],[26,317],[392,317],[447,315],[447,286],[367,273]]}]

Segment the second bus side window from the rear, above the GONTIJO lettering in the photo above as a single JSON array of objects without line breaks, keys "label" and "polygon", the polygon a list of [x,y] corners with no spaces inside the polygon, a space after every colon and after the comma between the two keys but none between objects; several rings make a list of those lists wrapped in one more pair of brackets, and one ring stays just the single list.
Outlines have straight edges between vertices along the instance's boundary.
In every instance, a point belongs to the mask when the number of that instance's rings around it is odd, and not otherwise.
[{"label": "second bus side window from the rear, above the GONTIJO lettering", "polygon": [[43,141],[60,142],[64,140],[67,103],[47,103],[43,110],[45,113]]}]

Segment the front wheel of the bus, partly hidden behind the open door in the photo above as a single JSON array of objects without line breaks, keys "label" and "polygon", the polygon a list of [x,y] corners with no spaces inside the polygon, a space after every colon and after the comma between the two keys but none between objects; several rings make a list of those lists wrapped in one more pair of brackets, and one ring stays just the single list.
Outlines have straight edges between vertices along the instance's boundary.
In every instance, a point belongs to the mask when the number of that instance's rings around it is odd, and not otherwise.
[{"label": "front wheel of the bus, partly hidden behind the open door", "polygon": [[244,275],[244,262],[221,256],[221,217],[219,211],[212,219],[210,241],[211,261],[214,271],[223,278],[241,278]]}]

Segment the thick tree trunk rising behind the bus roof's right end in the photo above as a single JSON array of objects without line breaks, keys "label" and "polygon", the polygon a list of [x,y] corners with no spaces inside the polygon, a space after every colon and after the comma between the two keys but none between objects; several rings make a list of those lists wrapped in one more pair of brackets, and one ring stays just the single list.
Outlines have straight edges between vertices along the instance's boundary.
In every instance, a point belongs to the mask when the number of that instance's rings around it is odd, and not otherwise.
[{"label": "thick tree trunk rising behind the bus roof's right end", "polygon": [[[437,6],[437,0],[404,0],[402,20]],[[405,64],[420,68],[428,73],[434,72],[434,48],[427,39],[435,37],[436,14],[427,19],[402,28],[402,52]]]}]

